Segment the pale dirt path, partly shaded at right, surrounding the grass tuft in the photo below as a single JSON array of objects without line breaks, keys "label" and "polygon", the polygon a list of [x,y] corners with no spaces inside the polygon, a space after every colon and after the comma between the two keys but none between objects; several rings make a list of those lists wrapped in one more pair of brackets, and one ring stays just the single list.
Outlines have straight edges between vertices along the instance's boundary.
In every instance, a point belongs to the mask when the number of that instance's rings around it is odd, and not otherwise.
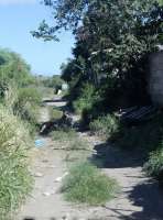
[{"label": "pale dirt path, partly shaded at right, surrounding the grass tuft", "polygon": [[[64,106],[57,100],[55,106]],[[41,121],[48,120],[47,108],[42,109]],[[44,138],[45,145],[36,148],[32,173],[35,186],[32,196],[22,207],[15,220],[31,217],[35,220],[163,220],[163,196],[157,184],[144,177],[138,157],[122,154],[106,146],[105,143],[87,133],[79,133],[96,150],[89,160],[104,163],[102,172],[115,177],[121,186],[121,193],[105,207],[79,207],[64,201],[58,189],[62,177],[67,172],[64,151],[54,151],[55,142]],[[96,158],[96,160],[95,160]]]}]

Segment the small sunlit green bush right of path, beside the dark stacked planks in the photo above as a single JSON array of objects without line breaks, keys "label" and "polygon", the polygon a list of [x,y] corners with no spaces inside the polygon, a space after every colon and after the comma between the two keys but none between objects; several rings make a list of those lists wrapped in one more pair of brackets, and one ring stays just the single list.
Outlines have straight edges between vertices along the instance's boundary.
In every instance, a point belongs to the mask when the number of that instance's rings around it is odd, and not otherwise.
[{"label": "small sunlit green bush right of path, beside the dark stacked planks", "polygon": [[119,122],[112,114],[99,117],[89,124],[90,131],[104,138],[110,138],[118,131]]}]

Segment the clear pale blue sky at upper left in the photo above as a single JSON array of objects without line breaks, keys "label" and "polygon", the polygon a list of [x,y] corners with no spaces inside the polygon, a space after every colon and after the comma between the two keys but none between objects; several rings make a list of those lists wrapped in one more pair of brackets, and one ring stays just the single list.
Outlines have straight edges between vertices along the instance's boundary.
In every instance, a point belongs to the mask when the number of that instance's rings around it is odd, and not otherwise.
[{"label": "clear pale blue sky at upper left", "polygon": [[40,0],[0,0],[0,46],[21,54],[34,74],[54,75],[70,57],[74,37],[63,32],[59,43],[33,38],[30,31],[43,19],[51,20],[51,10]]}]

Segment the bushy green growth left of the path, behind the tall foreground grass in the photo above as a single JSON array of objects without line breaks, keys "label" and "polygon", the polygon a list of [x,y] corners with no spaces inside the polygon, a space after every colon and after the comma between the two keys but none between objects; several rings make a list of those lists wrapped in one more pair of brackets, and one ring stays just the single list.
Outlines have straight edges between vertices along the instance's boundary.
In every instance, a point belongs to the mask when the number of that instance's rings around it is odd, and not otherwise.
[{"label": "bushy green growth left of the path, behind the tall foreground grass", "polygon": [[9,85],[3,105],[19,117],[28,125],[33,135],[36,131],[41,95],[37,89],[24,87],[18,88],[14,84]]}]

